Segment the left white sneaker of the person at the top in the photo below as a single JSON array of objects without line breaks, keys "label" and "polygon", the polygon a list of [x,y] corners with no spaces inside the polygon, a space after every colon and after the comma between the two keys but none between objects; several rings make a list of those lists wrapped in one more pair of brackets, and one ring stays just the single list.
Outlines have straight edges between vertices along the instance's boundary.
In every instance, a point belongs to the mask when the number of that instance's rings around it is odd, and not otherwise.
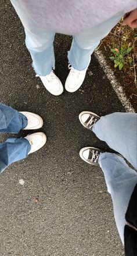
[{"label": "left white sneaker of the person at the top", "polygon": [[63,85],[60,79],[54,74],[53,70],[49,75],[41,76],[36,75],[36,77],[40,77],[42,83],[45,88],[51,92],[53,95],[60,95],[63,92]]}]

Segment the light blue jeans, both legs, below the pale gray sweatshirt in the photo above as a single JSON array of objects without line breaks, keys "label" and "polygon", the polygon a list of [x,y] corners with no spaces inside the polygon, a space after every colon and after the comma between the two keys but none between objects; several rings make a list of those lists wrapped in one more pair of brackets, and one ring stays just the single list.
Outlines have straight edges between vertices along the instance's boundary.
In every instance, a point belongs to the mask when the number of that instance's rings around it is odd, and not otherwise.
[{"label": "light blue jeans, both legs, below the pale gray sweatshirt", "polygon": [[[26,46],[33,59],[33,67],[38,75],[48,75],[55,69],[55,54],[53,41],[55,32],[41,29],[17,0],[10,0],[16,9],[26,33]],[[111,19],[100,23],[82,33],[73,35],[73,42],[68,53],[69,63],[77,70],[84,70],[89,64],[89,58],[96,47],[110,30],[117,24],[124,13],[117,13]]]}]

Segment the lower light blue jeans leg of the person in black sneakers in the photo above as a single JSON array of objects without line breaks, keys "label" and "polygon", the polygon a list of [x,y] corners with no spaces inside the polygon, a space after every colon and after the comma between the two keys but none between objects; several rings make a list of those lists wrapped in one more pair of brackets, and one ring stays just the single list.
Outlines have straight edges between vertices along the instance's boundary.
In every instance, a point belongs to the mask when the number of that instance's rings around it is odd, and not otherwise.
[{"label": "lower light blue jeans leg of the person in black sneakers", "polygon": [[125,213],[137,182],[137,174],[128,167],[124,158],[117,154],[100,154],[99,165],[102,168],[108,192],[111,193],[114,218],[124,244]]}]

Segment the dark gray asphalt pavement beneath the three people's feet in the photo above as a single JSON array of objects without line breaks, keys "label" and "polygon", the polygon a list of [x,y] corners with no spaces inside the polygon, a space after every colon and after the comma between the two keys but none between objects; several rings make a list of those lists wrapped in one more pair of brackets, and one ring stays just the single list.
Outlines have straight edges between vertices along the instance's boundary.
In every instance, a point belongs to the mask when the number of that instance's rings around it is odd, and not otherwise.
[{"label": "dark gray asphalt pavement beneath the three people's feet", "polygon": [[[8,0],[0,3],[0,101],[41,115],[47,136],[45,147],[0,177],[0,256],[122,256],[102,171],[79,157],[82,147],[107,146],[81,126],[78,114],[125,110],[94,56],[77,92],[49,94],[35,78],[19,18]],[[63,84],[70,45],[70,36],[57,34],[55,72]]]}]

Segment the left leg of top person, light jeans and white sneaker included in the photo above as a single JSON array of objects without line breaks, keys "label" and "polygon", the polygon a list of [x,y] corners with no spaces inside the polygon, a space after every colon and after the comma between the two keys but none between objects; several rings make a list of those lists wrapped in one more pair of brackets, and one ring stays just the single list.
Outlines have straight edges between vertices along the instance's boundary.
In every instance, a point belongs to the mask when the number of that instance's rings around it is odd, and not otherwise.
[{"label": "left leg of top person, light jeans and white sneaker included", "polygon": [[26,33],[26,46],[33,60],[36,77],[40,77],[45,88],[53,95],[63,92],[60,79],[54,74],[55,54],[53,40],[55,33],[39,27],[17,0],[10,0],[14,6]]}]

